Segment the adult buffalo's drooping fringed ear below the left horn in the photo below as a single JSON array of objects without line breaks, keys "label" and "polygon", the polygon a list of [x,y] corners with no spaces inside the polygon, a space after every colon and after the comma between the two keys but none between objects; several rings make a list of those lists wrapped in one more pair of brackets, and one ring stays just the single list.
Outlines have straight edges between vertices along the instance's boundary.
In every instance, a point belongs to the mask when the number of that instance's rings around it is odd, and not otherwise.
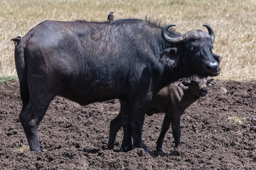
[{"label": "adult buffalo's drooping fringed ear below the left horn", "polygon": [[179,62],[178,49],[176,47],[166,48],[160,55],[160,62],[166,67],[174,68]]}]

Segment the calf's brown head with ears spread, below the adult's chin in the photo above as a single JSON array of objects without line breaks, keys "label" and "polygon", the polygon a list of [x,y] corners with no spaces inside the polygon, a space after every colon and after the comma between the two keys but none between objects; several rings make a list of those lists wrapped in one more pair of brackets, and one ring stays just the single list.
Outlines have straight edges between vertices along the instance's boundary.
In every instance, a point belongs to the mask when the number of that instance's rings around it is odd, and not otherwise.
[{"label": "calf's brown head with ears spread, below the adult's chin", "polygon": [[193,76],[191,81],[182,81],[178,86],[181,86],[183,90],[188,90],[193,96],[201,97],[208,94],[207,87],[211,87],[215,84],[215,79],[200,78]]}]

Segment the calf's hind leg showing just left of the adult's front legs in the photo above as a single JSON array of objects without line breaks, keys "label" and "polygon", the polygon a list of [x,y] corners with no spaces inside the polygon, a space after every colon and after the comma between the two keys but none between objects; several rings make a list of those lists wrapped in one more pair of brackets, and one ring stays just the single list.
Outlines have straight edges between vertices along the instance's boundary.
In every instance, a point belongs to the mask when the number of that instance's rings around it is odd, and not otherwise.
[{"label": "calf's hind leg showing just left of the adult's front legs", "polygon": [[114,149],[114,140],[117,137],[118,130],[122,127],[121,112],[110,122],[110,136],[107,144],[107,149]]}]

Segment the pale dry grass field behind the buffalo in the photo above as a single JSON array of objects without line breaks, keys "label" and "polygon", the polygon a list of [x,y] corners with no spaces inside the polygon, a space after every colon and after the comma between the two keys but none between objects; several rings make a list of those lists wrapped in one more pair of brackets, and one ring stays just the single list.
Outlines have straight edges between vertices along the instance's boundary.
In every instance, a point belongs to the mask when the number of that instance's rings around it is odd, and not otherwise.
[{"label": "pale dry grass field behind the buffalo", "polygon": [[0,7],[0,77],[16,75],[14,44],[11,38],[48,19],[106,21],[107,14],[117,18],[149,16],[176,29],[206,29],[216,34],[214,52],[223,57],[217,79],[256,80],[256,1],[255,0],[1,0]]}]

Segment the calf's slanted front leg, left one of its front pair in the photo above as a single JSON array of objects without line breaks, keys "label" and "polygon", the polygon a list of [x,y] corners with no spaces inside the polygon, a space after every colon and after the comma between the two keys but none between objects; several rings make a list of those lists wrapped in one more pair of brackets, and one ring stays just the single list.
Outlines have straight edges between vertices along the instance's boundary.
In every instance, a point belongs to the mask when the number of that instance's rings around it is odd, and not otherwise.
[{"label": "calf's slanted front leg, left one of its front pair", "polygon": [[166,132],[169,130],[170,125],[171,125],[171,119],[169,118],[169,115],[166,113],[166,115],[164,116],[163,124],[161,126],[161,132],[160,132],[159,138],[156,142],[156,150],[164,152],[164,149],[163,149],[164,136],[166,135]]}]

